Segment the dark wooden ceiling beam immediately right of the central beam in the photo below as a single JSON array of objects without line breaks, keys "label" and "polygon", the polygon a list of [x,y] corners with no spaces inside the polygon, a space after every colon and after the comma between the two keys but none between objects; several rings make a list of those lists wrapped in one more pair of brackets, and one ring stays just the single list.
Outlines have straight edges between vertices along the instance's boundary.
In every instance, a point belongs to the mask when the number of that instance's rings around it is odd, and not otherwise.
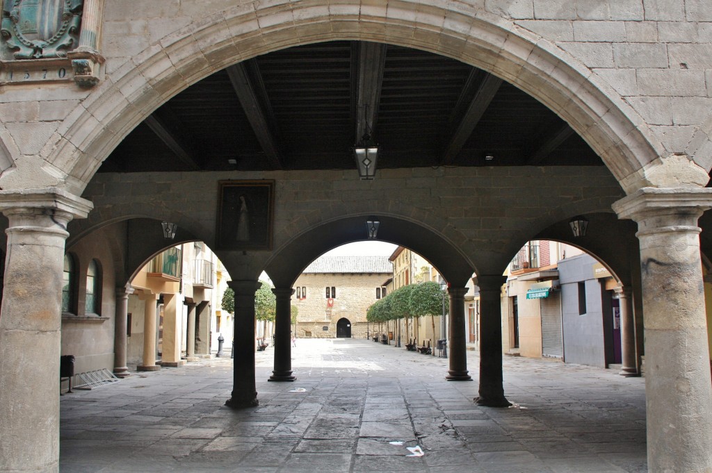
[{"label": "dark wooden ceiling beam immediately right of the central beam", "polygon": [[[477,80],[477,78],[481,78],[481,80]],[[473,68],[461,97],[468,95],[470,87],[477,87],[477,90],[471,102],[469,102],[467,110],[460,119],[460,122],[456,125],[456,127],[454,127],[454,132],[451,134],[449,142],[447,142],[443,147],[440,156],[441,165],[452,164],[455,156],[459,154],[462,147],[464,147],[465,142],[467,142],[468,138],[477,127],[478,122],[486,112],[487,107],[489,107],[494,96],[497,94],[501,84],[502,80],[500,78],[497,78],[490,73],[485,73],[482,70]]]}]

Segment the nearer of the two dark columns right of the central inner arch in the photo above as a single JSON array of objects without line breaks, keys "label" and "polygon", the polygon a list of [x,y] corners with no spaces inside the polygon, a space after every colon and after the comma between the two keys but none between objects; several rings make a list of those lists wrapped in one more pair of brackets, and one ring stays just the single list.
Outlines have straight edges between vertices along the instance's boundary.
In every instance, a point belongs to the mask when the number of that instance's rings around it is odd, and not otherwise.
[{"label": "nearer of the two dark columns right of the central inner arch", "polygon": [[506,408],[511,403],[504,397],[502,376],[502,285],[501,275],[477,276],[480,288],[480,387],[475,398],[478,405]]}]

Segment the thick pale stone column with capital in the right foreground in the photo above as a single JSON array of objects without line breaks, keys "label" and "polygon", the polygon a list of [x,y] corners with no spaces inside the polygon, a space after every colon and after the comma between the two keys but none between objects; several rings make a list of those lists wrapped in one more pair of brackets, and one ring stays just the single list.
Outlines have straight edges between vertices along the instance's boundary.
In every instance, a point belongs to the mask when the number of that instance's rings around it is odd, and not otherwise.
[{"label": "thick pale stone column with capital in the right foreground", "polygon": [[712,472],[712,380],[697,220],[709,188],[642,188],[613,204],[638,223],[648,471]]}]

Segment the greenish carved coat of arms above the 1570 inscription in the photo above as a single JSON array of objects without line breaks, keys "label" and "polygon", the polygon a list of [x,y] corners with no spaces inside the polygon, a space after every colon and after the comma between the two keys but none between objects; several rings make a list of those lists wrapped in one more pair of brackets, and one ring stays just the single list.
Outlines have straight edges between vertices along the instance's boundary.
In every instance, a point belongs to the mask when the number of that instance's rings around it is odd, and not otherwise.
[{"label": "greenish carved coat of arms above the 1570 inscription", "polygon": [[83,0],[3,0],[0,34],[15,59],[65,58],[78,44]]}]

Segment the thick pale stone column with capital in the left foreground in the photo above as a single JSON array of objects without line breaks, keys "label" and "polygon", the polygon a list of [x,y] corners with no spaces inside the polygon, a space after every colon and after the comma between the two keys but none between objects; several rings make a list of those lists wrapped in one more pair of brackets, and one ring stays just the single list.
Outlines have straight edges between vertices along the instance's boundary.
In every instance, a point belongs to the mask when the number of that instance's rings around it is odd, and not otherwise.
[{"label": "thick pale stone column with capital in the left foreground", "polygon": [[0,312],[0,472],[58,471],[66,228],[91,208],[58,188],[0,191],[0,211],[9,219]]}]

